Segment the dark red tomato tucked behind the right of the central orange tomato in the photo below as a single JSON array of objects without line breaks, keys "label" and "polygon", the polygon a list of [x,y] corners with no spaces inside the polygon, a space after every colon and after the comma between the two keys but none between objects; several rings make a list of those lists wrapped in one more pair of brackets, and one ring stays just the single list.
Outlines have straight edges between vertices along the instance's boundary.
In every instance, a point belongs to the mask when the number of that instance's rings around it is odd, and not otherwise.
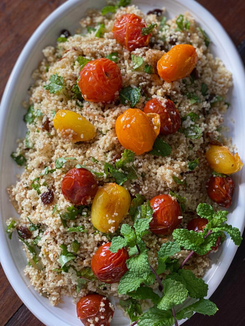
[{"label": "dark red tomato tucked behind the right of the central orange tomato", "polygon": [[156,98],[149,100],[145,107],[145,113],[157,113],[160,115],[160,135],[169,135],[178,131],[181,120],[179,110],[175,109],[174,103],[168,99],[163,106]]}]

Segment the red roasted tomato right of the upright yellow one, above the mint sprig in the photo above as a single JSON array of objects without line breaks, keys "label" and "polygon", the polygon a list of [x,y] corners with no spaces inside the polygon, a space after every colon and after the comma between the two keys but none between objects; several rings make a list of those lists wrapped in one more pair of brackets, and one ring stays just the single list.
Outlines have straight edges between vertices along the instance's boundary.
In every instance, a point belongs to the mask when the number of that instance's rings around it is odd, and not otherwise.
[{"label": "red roasted tomato right of the upright yellow one, above the mint sprig", "polygon": [[150,230],[155,234],[170,234],[180,225],[180,205],[169,195],[158,195],[151,199],[154,211]]}]

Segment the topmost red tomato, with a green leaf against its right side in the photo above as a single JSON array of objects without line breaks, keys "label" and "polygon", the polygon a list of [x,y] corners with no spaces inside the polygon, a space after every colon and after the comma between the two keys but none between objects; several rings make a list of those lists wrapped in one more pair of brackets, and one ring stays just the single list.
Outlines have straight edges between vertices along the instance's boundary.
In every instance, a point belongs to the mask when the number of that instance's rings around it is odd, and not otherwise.
[{"label": "topmost red tomato, with a green leaf against its right side", "polygon": [[112,28],[113,37],[128,51],[134,51],[149,44],[151,35],[142,35],[143,27],[147,27],[145,21],[135,14],[118,16]]}]

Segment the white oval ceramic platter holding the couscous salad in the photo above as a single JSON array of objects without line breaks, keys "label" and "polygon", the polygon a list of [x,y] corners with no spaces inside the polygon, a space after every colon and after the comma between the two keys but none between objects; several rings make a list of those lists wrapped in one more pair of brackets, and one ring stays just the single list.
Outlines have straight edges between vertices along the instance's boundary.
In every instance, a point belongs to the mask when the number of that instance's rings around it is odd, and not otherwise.
[{"label": "white oval ceramic platter holding the couscous salad", "polygon": [[[230,135],[237,144],[239,155],[245,162],[245,113],[242,110],[245,103],[245,78],[244,68],[237,50],[219,24],[219,22],[202,6],[194,0],[133,0],[134,4],[147,12],[152,8],[166,7],[169,18],[184,13],[186,10],[194,16],[197,22],[205,29],[212,40],[211,52],[219,56],[225,66],[232,71],[234,87],[230,92],[228,101],[231,107],[226,115],[226,125],[230,126]],[[9,77],[0,111],[0,200],[1,200],[1,227],[0,227],[0,258],[4,271],[24,304],[47,326],[81,326],[76,317],[75,305],[71,299],[65,298],[65,304],[58,304],[57,307],[50,305],[48,299],[40,296],[31,286],[29,280],[24,276],[23,268],[26,258],[21,244],[14,235],[12,240],[8,239],[5,233],[5,220],[10,216],[18,218],[11,206],[6,187],[16,181],[15,173],[19,170],[15,162],[10,158],[10,153],[16,148],[16,139],[24,137],[26,127],[23,122],[24,110],[21,108],[21,101],[27,99],[26,91],[32,83],[31,73],[42,59],[41,50],[50,44],[55,45],[60,30],[67,28],[71,32],[78,27],[79,19],[88,8],[102,8],[106,1],[99,0],[69,0],[57,8],[35,31],[19,56],[16,65]],[[231,122],[235,120],[235,124]],[[238,227],[241,231],[244,228],[245,211],[245,170],[234,176],[236,191],[234,202],[229,209],[228,223]],[[226,273],[237,247],[229,238],[222,244],[218,252],[212,256],[212,266],[205,274],[205,281],[209,284],[208,297],[215,291]],[[219,302],[217,302],[219,305]],[[117,311],[114,315],[111,326],[127,326],[129,322]],[[182,321],[183,322],[183,321]],[[181,324],[180,322],[179,324]]]}]

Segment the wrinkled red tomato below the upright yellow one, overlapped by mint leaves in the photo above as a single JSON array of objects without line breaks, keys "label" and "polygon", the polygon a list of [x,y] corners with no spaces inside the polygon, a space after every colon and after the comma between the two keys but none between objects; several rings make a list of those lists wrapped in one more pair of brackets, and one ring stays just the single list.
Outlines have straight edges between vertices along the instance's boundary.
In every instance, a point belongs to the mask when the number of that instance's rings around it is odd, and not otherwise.
[{"label": "wrinkled red tomato below the upright yellow one, overlapped by mint leaves", "polygon": [[102,282],[116,283],[127,272],[126,260],[128,252],[125,248],[113,253],[109,250],[111,243],[101,245],[93,255],[91,269],[93,274]]}]

